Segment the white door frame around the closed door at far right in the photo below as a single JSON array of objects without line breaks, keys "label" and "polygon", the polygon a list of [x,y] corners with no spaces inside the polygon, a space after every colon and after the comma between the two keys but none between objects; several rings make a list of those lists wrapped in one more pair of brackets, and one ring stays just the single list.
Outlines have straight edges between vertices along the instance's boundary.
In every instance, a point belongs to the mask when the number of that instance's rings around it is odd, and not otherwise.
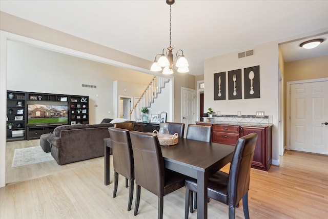
[{"label": "white door frame around the closed door at far right", "polygon": [[328,77],[286,83],[286,149],[291,149],[291,85],[328,81]]}]

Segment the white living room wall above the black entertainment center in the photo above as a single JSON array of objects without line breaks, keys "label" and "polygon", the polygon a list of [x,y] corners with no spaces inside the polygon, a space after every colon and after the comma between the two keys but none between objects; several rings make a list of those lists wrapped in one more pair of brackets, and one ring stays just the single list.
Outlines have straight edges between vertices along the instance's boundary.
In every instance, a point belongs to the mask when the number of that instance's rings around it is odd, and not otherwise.
[{"label": "white living room wall above the black entertainment center", "polygon": [[[13,41],[8,41],[7,58],[7,90],[88,95],[90,124],[114,116],[113,75],[117,67]],[[130,92],[138,96],[143,90],[133,90],[136,86],[145,85],[130,85]]]}]

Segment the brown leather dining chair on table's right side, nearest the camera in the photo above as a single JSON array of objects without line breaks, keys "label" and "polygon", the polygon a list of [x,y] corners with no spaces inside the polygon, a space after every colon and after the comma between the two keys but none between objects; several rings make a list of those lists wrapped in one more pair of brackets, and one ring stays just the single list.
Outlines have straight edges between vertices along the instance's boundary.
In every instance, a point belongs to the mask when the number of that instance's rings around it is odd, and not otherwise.
[{"label": "brown leather dining chair on table's right side, nearest the camera", "polygon": [[[235,208],[242,199],[245,218],[249,219],[248,190],[250,187],[251,165],[257,141],[257,133],[240,137],[236,144],[230,171],[217,171],[208,179],[208,197],[229,206],[229,219],[236,217]],[[191,207],[192,191],[197,191],[197,181],[193,178],[186,180],[185,218],[188,218],[188,208]]]}]

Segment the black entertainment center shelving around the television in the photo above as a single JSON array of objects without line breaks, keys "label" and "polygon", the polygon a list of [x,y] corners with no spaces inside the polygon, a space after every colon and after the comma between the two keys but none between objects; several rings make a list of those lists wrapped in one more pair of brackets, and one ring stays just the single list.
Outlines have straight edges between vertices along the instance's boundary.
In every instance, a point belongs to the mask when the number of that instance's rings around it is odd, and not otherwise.
[{"label": "black entertainment center shelving around the television", "polygon": [[[67,110],[38,108],[40,110],[36,110],[37,114],[34,116],[47,117],[51,122],[31,124],[29,121],[32,111],[28,105],[60,106]],[[64,122],[60,122],[61,119]],[[11,129],[8,124],[13,124]],[[7,142],[39,138],[42,134],[52,133],[57,126],[63,124],[89,124],[89,96],[7,91]]]}]

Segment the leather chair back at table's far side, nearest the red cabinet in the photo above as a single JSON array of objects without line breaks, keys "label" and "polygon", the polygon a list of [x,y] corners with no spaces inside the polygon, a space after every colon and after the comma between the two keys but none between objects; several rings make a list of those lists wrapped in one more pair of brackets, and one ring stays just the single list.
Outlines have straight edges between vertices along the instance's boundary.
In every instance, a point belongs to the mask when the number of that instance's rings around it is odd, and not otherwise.
[{"label": "leather chair back at table's far side, nearest the red cabinet", "polygon": [[212,126],[201,126],[189,124],[187,128],[187,139],[211,142],[212,141]]}]

